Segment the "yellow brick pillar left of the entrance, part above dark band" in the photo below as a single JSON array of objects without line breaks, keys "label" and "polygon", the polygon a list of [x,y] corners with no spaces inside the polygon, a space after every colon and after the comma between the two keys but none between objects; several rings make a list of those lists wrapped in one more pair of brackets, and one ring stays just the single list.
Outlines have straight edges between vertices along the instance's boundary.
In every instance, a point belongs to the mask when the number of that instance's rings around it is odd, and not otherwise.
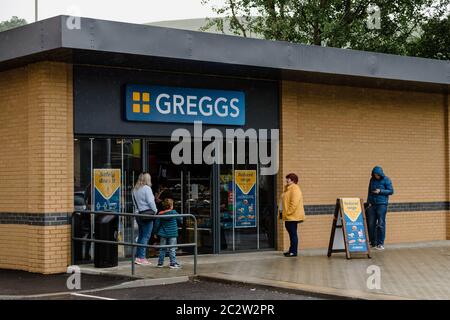
[{"label": "yellow brick pillar left of the entrance, part above dark band", "polygon": [[[29,212],[73,208],[72,66],[43,63],[28,67]],[[67,181],[71,177],[71,181]]]}]

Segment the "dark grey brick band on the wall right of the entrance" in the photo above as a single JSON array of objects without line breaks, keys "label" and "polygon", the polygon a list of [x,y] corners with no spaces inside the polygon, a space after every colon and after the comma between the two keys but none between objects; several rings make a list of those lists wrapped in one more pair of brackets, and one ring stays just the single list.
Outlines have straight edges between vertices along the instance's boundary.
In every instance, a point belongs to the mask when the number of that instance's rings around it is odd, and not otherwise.
[{"label": "dark grey brick band on the wall right of the entrance", "polygon": [[[307,215],[334,214],[334,204],[305,206]],[[388,212],[420,212],[450,210],[450,202],[403,202],[391,203]]]}]

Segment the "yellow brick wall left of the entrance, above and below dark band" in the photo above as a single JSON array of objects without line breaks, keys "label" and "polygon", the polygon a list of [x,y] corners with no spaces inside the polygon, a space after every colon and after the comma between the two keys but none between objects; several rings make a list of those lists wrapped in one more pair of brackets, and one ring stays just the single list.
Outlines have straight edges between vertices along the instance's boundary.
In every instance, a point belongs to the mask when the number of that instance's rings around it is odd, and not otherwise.
[{"label": "yellow brick wall left of the entrance, above and below dark band", "polygon": [[[72,66],[0,72],[0,214],[73,210]],[[0,225],[0,268],[64,272],[70,227]]]}]

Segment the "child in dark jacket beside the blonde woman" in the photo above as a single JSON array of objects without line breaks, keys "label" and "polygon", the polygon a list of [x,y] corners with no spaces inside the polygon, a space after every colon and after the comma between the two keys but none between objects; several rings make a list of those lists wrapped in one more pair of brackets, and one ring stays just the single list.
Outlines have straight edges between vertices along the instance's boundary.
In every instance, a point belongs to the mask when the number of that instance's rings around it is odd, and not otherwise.
[{"label": "child in dark jacket beside the blonde woman", "polygon": [[[158,212],[158,215],[174,215],[178,214],[173,210],[173,200],[164,199],[162,202],[163,210]],[[178,223],[181,223],[181,217],[179,218],[160,218],[156,219],[155,230],[156,234],[160,237],[160,245],[175,245],[178,238]],[[159,261],[158,267],[164,266],[164,258],[166,257],[167,248],[159,249]],[[177,262],[176,248],[169,248],[169,259],[171,269],[180,269],[181,265]]]}]

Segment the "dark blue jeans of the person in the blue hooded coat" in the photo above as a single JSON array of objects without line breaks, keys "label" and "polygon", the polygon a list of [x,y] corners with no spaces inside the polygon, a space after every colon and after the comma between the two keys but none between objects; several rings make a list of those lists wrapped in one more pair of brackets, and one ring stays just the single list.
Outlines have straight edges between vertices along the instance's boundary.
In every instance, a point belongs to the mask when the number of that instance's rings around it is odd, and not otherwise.
[{"label": "dark blue jeans of the person in the blue hooded coat", "polygon": [[386,238],[386,204],[371,205],[367,209],[367,228],[372,246],[384,245]]}]

